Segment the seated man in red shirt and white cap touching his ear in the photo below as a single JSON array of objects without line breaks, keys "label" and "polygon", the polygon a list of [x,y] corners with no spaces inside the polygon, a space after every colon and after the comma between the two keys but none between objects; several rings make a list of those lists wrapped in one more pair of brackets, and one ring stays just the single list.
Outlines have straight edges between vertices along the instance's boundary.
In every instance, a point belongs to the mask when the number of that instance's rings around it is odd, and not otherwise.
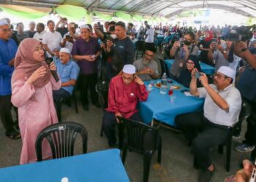
[{"label": "seated man in red shirt and white cap touching his ear", "polygon": [[138,101],[146,101],[148,92],[143,81],[135,75],[135,66],[124,65],[120,75],[110,81],[108,108],[103,116],[103,130],[108,137],[108,145],[116,146],[115,126],[117,116],[142,121],[136,109]]}]

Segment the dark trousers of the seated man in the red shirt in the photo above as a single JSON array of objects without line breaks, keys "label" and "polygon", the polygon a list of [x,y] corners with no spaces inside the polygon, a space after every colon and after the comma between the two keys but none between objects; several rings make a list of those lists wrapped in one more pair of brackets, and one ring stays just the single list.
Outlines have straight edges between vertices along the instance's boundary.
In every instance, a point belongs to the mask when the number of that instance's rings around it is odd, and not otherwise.
[{"label": "dark trousers of the seated man in the red shirt", "polygon": [[[139,113],[135,113],[132,116],[129,117],[129,119],[135,120],[135,121],[142,121],[140,118]],[[113,146],[116,144],[116,127],[117,121],[116,121],[116,115],[113,112],[105,111],[103,116],[103,130],[108,138],[108,144],[110,146]]]}]

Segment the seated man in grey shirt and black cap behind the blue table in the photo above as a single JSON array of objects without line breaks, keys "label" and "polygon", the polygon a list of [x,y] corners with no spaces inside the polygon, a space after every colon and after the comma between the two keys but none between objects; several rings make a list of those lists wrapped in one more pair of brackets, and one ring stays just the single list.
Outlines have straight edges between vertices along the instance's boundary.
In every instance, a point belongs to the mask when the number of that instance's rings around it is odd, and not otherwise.
[{"label": "seated man in grey shirt and black cap behind the blue table", "polygon": [[154,48],[148,47],[146,48],[143,58],[133,63],[137,71],[136,74],[143,81],[159,78],[157,62],[153,58]]}]

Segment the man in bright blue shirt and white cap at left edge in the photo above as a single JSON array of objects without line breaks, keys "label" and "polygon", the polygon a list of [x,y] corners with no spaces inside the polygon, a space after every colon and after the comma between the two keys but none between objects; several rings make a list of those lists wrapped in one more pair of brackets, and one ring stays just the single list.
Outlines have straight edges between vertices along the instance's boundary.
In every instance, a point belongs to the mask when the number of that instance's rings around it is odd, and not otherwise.
[{"label": "man in bright blue shirt and white cap at left edge", "polygon": [[14,58],[17,44],[10,39],[11,29],[6,19],[0,20],[0,117],[6,130],[6,135],[12,139],[20,138],[20,133],[14,130],[11,103],[11,78],[14,70]]}]

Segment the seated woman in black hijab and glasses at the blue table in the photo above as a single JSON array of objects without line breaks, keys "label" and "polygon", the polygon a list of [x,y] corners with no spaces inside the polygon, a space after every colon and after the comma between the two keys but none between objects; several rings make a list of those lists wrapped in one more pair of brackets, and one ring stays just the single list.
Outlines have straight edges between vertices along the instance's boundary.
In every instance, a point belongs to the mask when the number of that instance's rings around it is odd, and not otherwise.
[{"label": "seated woman in black hijab and glasses at the blue table", "polygon": [[[180,76],[178,77],[178,82],[183,84],[185,87],[189,88],[191,82],[191,71],[192,69],[197,68],[197,71],[201,72],[201,68],[197,57],[195,55],[190,55],[187,60],[187,69],[181,71]],[[201,83],[197,79],[197,87],[202,87]]]}]

